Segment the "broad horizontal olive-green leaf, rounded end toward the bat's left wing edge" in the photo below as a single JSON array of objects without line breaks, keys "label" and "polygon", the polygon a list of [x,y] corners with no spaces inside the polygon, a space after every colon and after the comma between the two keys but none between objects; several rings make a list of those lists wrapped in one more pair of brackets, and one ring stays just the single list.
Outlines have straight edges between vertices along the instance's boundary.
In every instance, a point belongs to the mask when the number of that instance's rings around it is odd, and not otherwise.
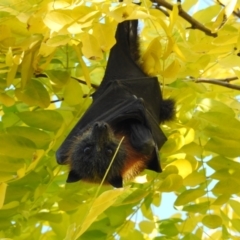
[{"label": "broad horizontal olive-green leaf, rounded end toward the bat's left wing edge", "polygon": [[20,112],[17,115],[27,125],[47,131],[57,131],[63,124],[61,114],[54,110]]}]

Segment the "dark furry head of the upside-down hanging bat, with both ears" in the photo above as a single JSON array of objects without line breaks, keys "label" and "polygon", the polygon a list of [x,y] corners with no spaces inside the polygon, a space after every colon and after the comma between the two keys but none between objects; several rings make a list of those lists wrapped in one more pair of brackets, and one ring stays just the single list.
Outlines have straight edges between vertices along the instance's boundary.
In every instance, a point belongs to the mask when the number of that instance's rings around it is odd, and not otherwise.
[{"label": "dark furry head of the upside-down hanging bat, with both ears", "polygon": [[[70,172],[67,182],[85,180],[101,182],[120,139],[114,136],[110,126],[105,122],[96,122],[77,137],[72,145],[69,162]],[[122,186],[121,169],[125,159],[124,146],[121,146],[107,174],[106,182],[114,187]]]}]

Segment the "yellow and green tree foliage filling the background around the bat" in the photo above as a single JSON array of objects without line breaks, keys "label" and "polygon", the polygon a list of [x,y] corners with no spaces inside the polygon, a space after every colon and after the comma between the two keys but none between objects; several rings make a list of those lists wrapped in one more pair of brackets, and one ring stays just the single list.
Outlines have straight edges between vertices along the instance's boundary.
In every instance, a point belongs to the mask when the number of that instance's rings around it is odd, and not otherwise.
[{"label": "yellow and green tree foliage filling the background around the bat", "polygon": [[[1,0],[0,238],[238,239],[240,1]],[[55,151],[91,103],[118,22],[176,118],[163,173],[123,189],[66,184]],[[161,209],[163,193],[173,206]]]}]

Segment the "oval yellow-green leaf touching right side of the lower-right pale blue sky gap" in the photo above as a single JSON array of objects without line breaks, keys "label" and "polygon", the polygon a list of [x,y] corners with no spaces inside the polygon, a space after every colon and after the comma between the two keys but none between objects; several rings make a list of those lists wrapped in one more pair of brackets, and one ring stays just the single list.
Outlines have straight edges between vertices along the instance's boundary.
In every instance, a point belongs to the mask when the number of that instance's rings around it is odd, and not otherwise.
[{"label": "oval yellow-green leaf touching right side of the lower-right pale blue sky gap", "polygon": [[192,202],[196,199],[198,199],[199,197],[202,197],[203,195],[205,195],[206,191],[203,189],[189,189],[189,190],[185,190],[184,192],[182,192],[178,197],[177,200],[175,201],[175,205],[176,206],[181,206],[181,205],[185,205],[189,202]]}]

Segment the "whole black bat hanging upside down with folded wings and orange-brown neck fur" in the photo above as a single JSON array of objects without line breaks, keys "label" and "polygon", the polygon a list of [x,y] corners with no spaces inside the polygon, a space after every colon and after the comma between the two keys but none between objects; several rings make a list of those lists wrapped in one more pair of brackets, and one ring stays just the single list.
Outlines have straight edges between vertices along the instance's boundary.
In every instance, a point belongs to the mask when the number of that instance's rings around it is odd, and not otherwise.
[{"label": "whole black bat hanging upside down with folded wings and orange-brown neck fur", "polygon": [[138,20],[118,24],[104,78],[93,102],[56,153],[69,164],[67,182],[101,182],[124,136],[105,183],[122,187],[144,169],[161,172],[158,151],[166,141],[159,127],[172,119],[174,101],[163,100],[156,77],[139,67]]}]

